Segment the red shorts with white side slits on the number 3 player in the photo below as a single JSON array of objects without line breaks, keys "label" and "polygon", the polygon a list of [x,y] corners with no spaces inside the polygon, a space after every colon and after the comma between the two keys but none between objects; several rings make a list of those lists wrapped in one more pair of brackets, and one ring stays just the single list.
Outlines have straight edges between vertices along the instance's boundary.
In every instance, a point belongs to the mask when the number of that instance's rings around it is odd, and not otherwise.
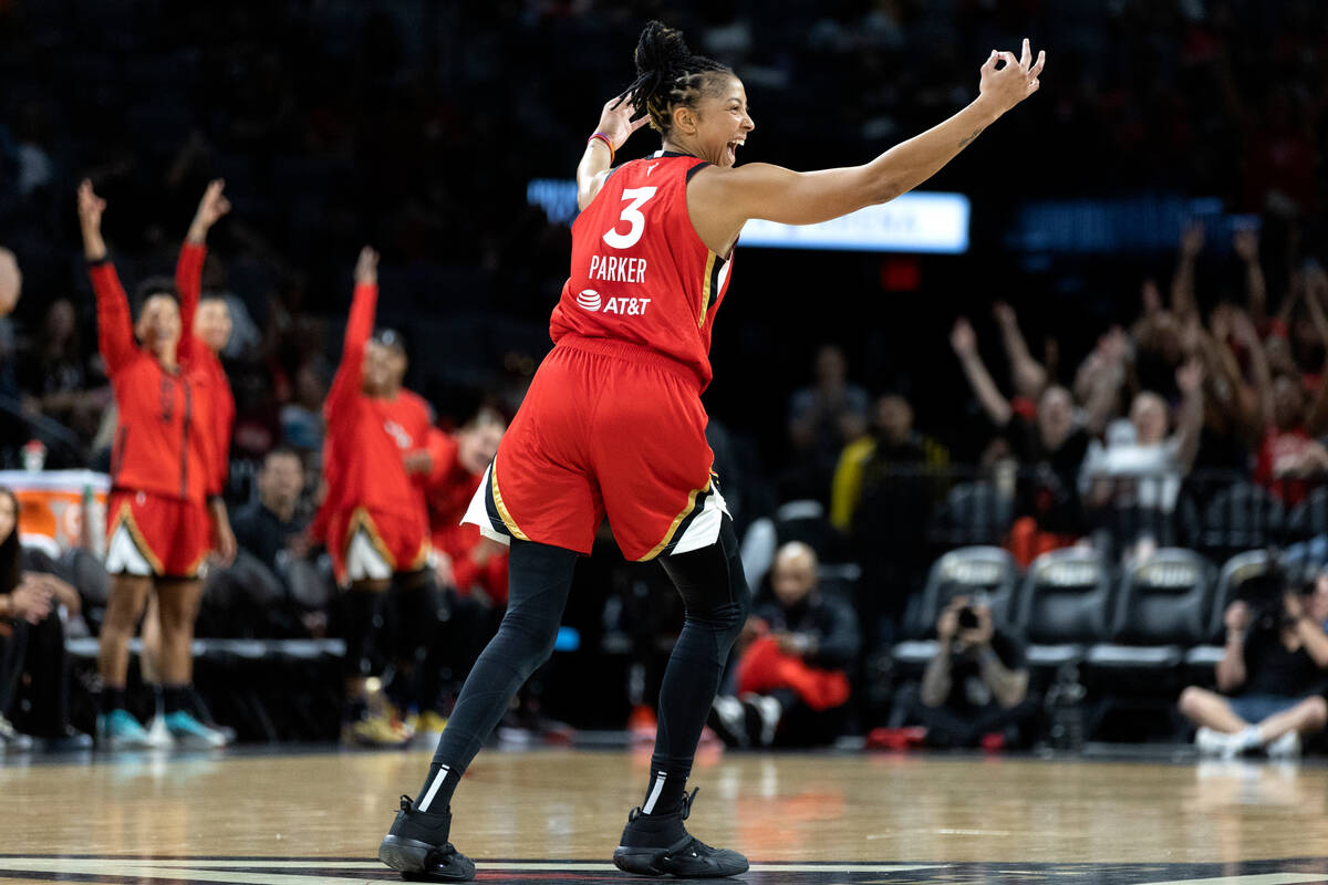
[{"label": "red shorts with white side slits on the number 3 player", "polygon": [[696,375],[645,348],[567,336],[530,385],[463,521],[588,555],[604,516],[623,555],[713,544],[728,511],[712,482]]}]

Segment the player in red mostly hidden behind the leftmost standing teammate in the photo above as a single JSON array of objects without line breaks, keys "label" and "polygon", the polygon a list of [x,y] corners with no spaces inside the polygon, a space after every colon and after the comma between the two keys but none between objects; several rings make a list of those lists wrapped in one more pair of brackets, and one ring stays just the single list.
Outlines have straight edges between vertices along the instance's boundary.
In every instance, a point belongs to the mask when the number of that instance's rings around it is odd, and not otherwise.
[{"label": "player in red mostly hidden behind the leftmost standing teammate", "polygon": [[[191,338],[181,341],[179,360],[202,382],[202,393],[207,395],[208,414],[212,427],[212,454],[215,463],[212,484],[226,488],[230,475],[231,426],[235,422],[235,395],[230,379],[222,366],[220,354],[231,338],[231,312],[226,299],[203,297],[203,261],[207,259],[207,232],[231,211],[231,203],[222,194],[226,183],[216,179],[207,184],[198,211],[185,235],[175,261],[175,291],[179,293],[181,325],[193,329]],[[191,647],[179,649],[191,654]],[[143,653],[139,661],[143,681],[158,689],[157,715],[147,726],[147,734],[157,747],[171,747],[175,742],[186,746],[223,747],[230,743],[230,735],[220,730],[203,726],[190,716],[166,715],[165,689],[161,681],[161,629],[157,597],[147,602],[143,617]],[[171,723],[175,727],[171,727]],[[201,730],[190,726],[199,724]]]}]

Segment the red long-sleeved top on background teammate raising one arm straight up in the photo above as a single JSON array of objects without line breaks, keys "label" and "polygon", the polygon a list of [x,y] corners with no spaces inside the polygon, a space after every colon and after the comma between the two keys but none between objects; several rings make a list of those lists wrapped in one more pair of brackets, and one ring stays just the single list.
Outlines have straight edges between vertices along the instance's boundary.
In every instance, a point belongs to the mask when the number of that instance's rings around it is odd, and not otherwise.
[{"label": "red long-sleeved top on background teammate raising one arm straight up", "polygon": [[421,536],[428,535],[424,488],[406,472],[404,458],[426,446],[432,410],[405,389],[386,399],[367,397],[360,387],[377,301],[377,285],[356,285],[341,365],[323,403],[327,496],[313,531],[324,541],[331,516],[357,507],[418,520]]}]

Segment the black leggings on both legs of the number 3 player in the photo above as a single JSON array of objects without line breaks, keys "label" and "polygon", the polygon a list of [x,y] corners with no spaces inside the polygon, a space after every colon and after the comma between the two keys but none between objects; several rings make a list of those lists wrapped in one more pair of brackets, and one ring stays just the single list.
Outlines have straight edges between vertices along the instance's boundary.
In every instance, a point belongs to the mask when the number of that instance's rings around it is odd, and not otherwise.
[{"label": "black leggings on both legs of the number 3 player", "polygon": [[[418,793],[430,796],[426,807],[421,803],[426,811],[446,807],[456,780],[502,719],[507,703],[552,654],[575,564],[572,551],[533,541],[511,543],[507,613],[466,678],[448,728],[438,739],[429,779]],[[737,533],[726,516],[717,543],[663,557],[661,564],[683,596],[687,618],[660,687],[652,766],[685,778],[752,600]],[[450,774],[444,784],[434,784],[444,767]]]}]

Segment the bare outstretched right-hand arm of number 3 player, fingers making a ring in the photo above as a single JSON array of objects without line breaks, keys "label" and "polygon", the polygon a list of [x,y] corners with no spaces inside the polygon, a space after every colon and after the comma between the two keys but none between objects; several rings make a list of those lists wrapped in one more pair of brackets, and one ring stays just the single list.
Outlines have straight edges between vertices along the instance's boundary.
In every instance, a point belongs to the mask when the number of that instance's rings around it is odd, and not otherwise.
[{"label": "bare outstretched right-hand arm of number 3 player, fingers making a ring", "polygon": [[[1019,58],[1011,52],[992,50],[981,66],[979,96],[971,105],[870,163],[814,172],[794,172],[769,163],[717,170],[697,176],[704,186],[689,188],[689,204],[704,200],[697,206],[701,215],[726,215],[737,230],[748,219],[814,224],[891,200],[935,175],[987,126],[1037,92],[1045,61],[1045,52],[1033,58],[1028,40]],[[693,212],[693,218],[697,215]]]}]

